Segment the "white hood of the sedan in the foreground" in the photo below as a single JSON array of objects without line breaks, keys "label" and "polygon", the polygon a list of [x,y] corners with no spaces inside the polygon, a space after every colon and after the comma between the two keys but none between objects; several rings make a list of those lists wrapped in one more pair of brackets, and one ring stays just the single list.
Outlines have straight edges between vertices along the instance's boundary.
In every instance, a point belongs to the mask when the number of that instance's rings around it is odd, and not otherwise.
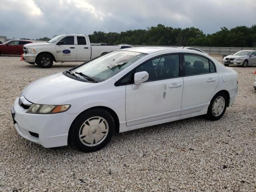
[{"label": "white hood of the sedan in the foreground", "polygon": [[32,82],[24,88],[22,95],[32,103],[40,104],[40,100],[47,97],[90,86],[95,86],[95,83],[81,82],[57,73]]}]

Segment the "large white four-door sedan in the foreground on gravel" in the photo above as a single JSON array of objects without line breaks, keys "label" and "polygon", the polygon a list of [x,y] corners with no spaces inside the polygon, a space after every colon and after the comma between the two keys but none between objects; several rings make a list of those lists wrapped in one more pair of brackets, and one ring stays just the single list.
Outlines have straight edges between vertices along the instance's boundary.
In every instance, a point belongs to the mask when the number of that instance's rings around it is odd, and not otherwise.
[{"label": "large white four-door sedan in the foreground on gravel", "polygon": [[204,53],[127,48],[36,80],[16,99],[12,117],[27,140],[92,152],[115,131],[205,114],[218,120],[237,90],[236,72]]}]

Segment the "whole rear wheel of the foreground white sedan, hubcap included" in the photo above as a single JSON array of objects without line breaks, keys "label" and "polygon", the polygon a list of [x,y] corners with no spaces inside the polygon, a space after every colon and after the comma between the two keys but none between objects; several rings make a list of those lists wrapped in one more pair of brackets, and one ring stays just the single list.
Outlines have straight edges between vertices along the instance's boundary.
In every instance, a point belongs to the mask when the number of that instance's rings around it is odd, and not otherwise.
[{"label": "whole rear wheel of the foreground white sedan, hubcap included", "polygon": [[228,105],[228,97],[225,93],[218,93],[216,94],[211,102],[210,105],[208,107],[208,111],[207,111],[207,117],[210,120],[218,120],[220,119],[227,108]]}]

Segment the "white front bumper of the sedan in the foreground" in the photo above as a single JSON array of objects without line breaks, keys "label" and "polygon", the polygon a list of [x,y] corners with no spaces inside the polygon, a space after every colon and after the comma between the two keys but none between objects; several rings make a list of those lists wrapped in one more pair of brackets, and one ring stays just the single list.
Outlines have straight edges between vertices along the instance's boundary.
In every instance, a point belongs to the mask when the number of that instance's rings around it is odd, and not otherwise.
[{"label": "white front bumper of the sedan in the foreground", "polygon": [[15,128],[25,139],[45,148],[68,145],[68,131],[77,114],[29,114],[18,104],[18,98],[11,110]]}]

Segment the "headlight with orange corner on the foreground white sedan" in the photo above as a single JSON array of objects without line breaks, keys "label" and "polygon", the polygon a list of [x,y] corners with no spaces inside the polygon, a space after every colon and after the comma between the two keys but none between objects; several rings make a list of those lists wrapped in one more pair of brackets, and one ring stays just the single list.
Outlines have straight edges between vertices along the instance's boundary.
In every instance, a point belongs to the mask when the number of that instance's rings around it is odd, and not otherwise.
[{"label": "headlight with orange corner on the foreground white sedan", "polygon": [[70,108],[70,105],[40,105],[32,104],[26,113],[33,114],[54,114],[65,112]]}]

